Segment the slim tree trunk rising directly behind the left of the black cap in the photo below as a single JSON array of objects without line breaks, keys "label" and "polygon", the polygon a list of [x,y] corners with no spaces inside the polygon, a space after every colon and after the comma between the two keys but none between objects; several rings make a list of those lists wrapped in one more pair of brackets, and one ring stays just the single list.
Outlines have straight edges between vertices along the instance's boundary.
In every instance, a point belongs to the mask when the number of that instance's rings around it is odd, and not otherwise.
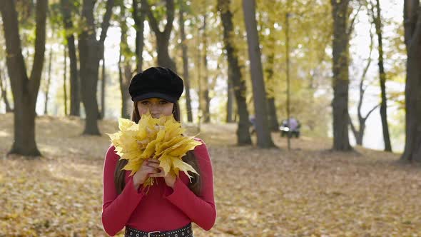
[{"label": "slim tree trunk rising directly behind the left of the black cap", "polygon": [[[143,31],[145,29],[145,26],[143,22],[146,18],[146,9],[145,4],[141,4],[141,9],[139,12],[139,2],[138,0],[133,0],[133,19],[134,19],[134,25],[136,28],[136,71],[140,73],[142,71],[142,64],[143,64],[143,46],[145,45],[143,43],[144,36]],[[127,114],[127,113],[126,113]]]}]

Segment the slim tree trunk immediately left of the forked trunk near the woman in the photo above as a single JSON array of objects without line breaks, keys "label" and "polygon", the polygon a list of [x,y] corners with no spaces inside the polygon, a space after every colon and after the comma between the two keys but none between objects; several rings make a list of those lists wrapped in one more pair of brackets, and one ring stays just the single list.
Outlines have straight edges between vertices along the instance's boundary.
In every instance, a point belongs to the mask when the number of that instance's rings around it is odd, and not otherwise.
[{"label": "slim tree trunk immediately left of the forked trunk near the woman", "polygon": [[81,89],[78,79],[78,59],[76,57],[75,39],[73,36],[73,22],[71,21],[71,4],[69,0],[61,0],[61,14],[63,15],[66,41],[70,59],[70,115],[81,115]]}]

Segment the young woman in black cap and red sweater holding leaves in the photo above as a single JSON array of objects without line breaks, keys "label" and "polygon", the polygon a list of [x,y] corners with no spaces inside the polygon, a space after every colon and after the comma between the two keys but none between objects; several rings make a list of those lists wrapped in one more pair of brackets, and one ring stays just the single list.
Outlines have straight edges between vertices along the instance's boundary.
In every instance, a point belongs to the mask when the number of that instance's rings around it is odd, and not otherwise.
[{"label": "young woman in black cap and red sweater holding leaves", "polygon": [[[138,123],[148,111],[154,118],[173,114],[180,121],[178,99],[183,80],[170,69],[152,67],[131,79],[132,121]],[[197,139],[201,141],[200,139]],[[149,159],[133,175],[122,170],[127,160],[119,160],[114,146],[108,148],[103,167],[103,228],[110,236],[126,227],[125,236],[191,237],[193,221],[206,231],[215,223],[213,172],[205,143],[188,151],[183,161],[196,171],[190,182],[185,173],[167,174],[159,161]],[[148,193],[143,182],[156,177]]]}]

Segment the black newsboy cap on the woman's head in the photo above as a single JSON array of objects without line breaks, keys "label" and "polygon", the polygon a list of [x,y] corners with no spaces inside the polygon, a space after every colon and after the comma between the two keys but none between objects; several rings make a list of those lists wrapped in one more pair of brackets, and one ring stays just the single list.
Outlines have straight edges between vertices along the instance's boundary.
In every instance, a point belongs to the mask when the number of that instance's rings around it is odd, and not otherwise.
[{"label": "black newsboy cap on the woman's head", "polygon": [[176,103],[183,94],[183,79],[171,69],[151,67],[133,76],[128,86],[132,101],[161,98]]}]

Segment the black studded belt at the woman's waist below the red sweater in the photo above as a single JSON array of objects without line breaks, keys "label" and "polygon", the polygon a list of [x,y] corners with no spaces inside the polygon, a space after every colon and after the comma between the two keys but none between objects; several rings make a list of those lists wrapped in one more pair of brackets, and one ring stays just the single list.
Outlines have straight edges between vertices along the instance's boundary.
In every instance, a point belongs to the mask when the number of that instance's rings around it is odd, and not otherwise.
[{"label": "black studded belt at the woman's waist below the red sweater", "polygon": [[193,229],[191,223],[187,226],[173,231],[139,231],[136,228],[126,226],[124,237],[193,237]]}]

